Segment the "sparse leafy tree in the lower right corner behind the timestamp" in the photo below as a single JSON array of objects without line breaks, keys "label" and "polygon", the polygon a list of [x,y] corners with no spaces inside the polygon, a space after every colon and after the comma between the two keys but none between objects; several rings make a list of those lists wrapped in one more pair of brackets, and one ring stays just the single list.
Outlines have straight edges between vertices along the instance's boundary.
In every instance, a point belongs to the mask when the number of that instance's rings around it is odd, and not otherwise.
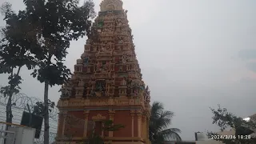
[{"label": "sparse leafy tree in the lower right corner behind the timestamp", "polygon": [[[208,132],[208,137],[211,138],[213,135],[218,135],[218,141],[225,144],[252,144],[256,143],[256,138],[249,136],[256,130],[256,122],[254,120],[245,121],[243,118],[235,116],[234,114],[228,112],[226,108],[222,108],[218,105],[218,109],[214,110],[210,108],[213,116],[213,124],[217,124],[220,130],[231,129],[235,131],[234,138],[221,138],[221,135]],[[242,137],[243,136],[243,137]]]}]

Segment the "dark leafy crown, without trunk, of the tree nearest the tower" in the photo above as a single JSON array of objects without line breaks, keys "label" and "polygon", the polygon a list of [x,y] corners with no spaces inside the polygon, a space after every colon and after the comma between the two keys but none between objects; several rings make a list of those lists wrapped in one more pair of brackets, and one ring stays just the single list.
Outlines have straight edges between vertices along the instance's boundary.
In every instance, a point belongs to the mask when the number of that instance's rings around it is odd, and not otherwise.
[{"label": "dark leafy crown, without trunk, of the tree nearest the tower", "polygon": [[38,58],[38,68],[33,77],[39,82],[49,82],[50,86],[61,85],[70,76],[70,70],[63,65],[70,41],[90,33],[94,17],[94,3],[86,1],[78,6],[78,0],[25,0],[26,13],[34,24],[37,42],[42,52],[34,51]]}]

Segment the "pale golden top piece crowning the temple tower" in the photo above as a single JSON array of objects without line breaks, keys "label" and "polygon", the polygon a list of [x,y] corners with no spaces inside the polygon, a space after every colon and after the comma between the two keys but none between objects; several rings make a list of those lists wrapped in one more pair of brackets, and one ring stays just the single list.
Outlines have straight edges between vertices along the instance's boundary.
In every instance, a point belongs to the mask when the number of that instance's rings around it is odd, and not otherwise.
[{"label": "pale golden top piece crowning the temple tower", "polygon": [[101,11],[122,10],[121,0],[103,0],[100,4]]}]

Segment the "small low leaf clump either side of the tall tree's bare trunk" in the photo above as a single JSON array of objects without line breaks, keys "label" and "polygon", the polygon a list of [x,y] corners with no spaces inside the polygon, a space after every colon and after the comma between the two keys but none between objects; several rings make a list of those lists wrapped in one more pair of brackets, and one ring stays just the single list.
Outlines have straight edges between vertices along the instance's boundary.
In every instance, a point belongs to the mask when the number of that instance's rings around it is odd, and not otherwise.
[{"label": "small low leaf clump either side of the tall tree's bare trunk", "polygon": [[[55,103],[54,102],[50,102],[50,99],[48,100],[48,107],[49,107],[49,112],[51,112],[54,109]],[[44,116],[44,114],[46,114],[45,111],[45,105],[44,102],[36,102],[35,106],[33,106],[33,112],[32,114],[36,114],[36,115],[40,115],[40,116]]]}]

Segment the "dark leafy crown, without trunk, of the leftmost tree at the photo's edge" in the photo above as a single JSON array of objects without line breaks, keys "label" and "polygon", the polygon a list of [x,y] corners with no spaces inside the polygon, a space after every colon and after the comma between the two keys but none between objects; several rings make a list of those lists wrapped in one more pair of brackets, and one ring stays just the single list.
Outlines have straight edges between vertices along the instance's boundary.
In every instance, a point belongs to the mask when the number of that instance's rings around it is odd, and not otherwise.
[{"label": "dark leafy crown, without trunk, of the leftmost tree at the photo's edge", "polygon": [[14,14],[9,3],[2,5],[2,14],[6,26],[2,28],[2,38],[0,41],[0,74],[11,74],[15,68],[26,66],[31,70],[36,62],[34,55],[30,53],[33,48],[38,48],[38,43],[34,42],[34,34],[31,34],[27,15],[24,11]]}]

